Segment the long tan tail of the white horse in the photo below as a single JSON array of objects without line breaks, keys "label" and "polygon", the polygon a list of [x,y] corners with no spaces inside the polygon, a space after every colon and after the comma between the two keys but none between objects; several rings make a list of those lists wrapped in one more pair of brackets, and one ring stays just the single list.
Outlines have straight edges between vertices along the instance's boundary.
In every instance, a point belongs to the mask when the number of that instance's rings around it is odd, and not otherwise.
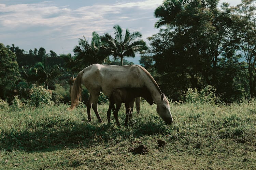
[{"label": "long tan tail of the white horse", "polygon": [[80,71],[77,74],[77,77],[71,88],[71,93],[70,93],[71,106],[69,107],[69,110],[73,110],[75,106],[78,104],[78,101],[81,99],[83,73],[84,73],[84,70]]}]

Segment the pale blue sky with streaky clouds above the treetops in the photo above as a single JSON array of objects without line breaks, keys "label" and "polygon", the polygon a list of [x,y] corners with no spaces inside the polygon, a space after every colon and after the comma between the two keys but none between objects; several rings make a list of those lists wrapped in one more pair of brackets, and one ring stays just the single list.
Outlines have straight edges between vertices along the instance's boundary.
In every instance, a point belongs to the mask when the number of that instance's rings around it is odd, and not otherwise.
[{"label": "pale blue sky with streaky clouds above the treetops", "polygon": [[[142,39],[157,33],[154,10],[163,0],[0,0],[0,43],[29,51],[40,47],[46,53],[73,54],[83,35],[110,33],[119,24],[123,30],[140,31]],[[237,5],[241,0],[220,0]],[[136,63],[138,64],[138,63]]]}]

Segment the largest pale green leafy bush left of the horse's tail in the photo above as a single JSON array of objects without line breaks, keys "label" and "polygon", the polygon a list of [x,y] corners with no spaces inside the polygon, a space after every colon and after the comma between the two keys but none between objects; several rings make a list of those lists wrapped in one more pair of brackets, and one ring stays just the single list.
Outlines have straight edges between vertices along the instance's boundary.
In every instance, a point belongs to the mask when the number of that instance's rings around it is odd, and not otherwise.
[{"label": "largest pale green leafy bush left of the horse's tail", "polygon": [[32,94],[29,97],[29,105],[32,107],[38,107],[43,105],[51,105],[52,104],[52,95],[46,91],[42,86],[33,87]]}]

